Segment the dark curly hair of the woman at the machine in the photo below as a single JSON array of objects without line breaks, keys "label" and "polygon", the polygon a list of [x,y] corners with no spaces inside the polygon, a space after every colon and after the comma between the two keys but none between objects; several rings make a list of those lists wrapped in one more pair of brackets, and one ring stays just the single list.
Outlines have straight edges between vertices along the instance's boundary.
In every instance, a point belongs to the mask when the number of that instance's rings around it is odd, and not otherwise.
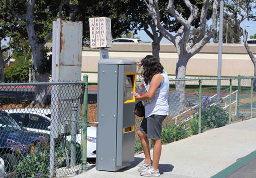
[{"label": "dark curly hair of the woman at the machine", "polygon": [[146,84],[151,81],[153,75],[162,74],[164,69],[158,59],[153,57],[152,55],[147,55],[141,60],[141,62],[139,62],[138,65],[139,69],[141,69],[142,67],[141,74]]}]

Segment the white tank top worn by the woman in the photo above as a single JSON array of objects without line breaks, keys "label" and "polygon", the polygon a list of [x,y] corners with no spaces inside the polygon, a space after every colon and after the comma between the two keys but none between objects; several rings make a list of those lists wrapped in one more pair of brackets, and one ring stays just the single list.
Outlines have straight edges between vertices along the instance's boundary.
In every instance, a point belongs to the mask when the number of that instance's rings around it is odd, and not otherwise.
[{"label": "white tank top worn by the woman", "polygon": [[[164,77],[163,82],[160,87],[157,88],[155,95],[153,96],[153,103],[145,106],[145,117],[149,117],[153,114],[156,115],[168,115],[169,104],[168,104],[168,94],[169,94],[169,78],[165,71],[161,74]],[[148,88],[150,83],[148,83]]]}]

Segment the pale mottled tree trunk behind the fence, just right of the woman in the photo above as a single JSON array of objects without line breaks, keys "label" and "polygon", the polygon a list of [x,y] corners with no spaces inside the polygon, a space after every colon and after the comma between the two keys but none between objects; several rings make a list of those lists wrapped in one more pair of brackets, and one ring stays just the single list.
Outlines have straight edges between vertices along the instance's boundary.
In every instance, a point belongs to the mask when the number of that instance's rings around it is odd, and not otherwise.
[{"label": "pale mottled tree trunk behind the fence, just right of the woman", "polygon": [[[179,57],[178,62],[176,64],[176,79],[183,79],[186,76],[186,64],[189,59],[185,59],[185,57]],[[185,108],[185,81],[176,81],[175,87],[176,92],[180,95],[179,105],[180,110]]]}]

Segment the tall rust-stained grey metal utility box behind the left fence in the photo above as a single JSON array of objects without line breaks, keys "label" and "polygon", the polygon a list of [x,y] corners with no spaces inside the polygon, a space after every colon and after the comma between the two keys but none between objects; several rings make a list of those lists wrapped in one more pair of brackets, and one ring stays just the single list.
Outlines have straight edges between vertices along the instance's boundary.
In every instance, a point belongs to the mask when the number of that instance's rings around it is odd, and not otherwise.
[{"label": "tall rust-stained grey metal utility box behind the left fence", "polygon": [[[52,80],[81,81],[81,59],[82,22],[62,21],[58,18],[53,22]],[[58,132],[53,132],[54,138],[59,134],[76,134],[79,131],[80,97],[80,85],[53,86],[51,125],[58,128]],[[76,120],[70,114],[73,104],[78,104]]]}]

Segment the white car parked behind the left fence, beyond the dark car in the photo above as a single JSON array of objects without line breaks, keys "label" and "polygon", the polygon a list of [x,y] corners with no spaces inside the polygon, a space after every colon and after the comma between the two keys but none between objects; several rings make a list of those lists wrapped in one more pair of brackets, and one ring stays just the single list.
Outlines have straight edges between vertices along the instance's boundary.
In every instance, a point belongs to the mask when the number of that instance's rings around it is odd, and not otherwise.
[{"label": "white car parked behind the left fence, beyond the dark car", "polygon": [[[12,109],[5,110],[17,122],[21,123],[24,128],[30,131],[50,134],[50,109]],[[87,127],[87,158],[96,157],[96,127],[88,125]],[[67,136],[71,140],[71,136]],[[82,130],[76,135],[77,144],[82,144]]]}]

